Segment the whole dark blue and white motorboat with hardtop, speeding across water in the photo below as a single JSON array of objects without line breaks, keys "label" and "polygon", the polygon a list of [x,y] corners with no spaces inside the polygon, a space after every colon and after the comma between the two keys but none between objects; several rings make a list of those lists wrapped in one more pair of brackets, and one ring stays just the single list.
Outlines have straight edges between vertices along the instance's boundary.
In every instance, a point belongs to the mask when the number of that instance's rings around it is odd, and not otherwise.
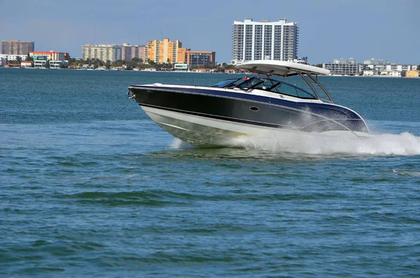
[{"label": "whole dark blue and white motorboat with hardtop, speeding across water", "polygon": [[365,120],[335,104],[318,82],[330,74],[327,69],[277,60],[244,62],[237,69],[250,76],[212,86],[130,85],[129,94],[163,130],[195,146],[234,146],[237,137],[270,132],[369,136]]}]

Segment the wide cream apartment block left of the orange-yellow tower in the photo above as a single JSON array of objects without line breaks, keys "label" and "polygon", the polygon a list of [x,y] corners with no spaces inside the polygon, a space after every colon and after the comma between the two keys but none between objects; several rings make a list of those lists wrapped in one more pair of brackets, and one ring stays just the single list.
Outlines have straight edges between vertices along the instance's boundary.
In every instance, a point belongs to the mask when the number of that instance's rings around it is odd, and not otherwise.
[{"label": "wide cream apartment block left of the orange-yellow tower", "polygon": [[123,46],[116,44],[86,44],[82,46],[82,59],[99,59],[102,62],[123,60]]}]

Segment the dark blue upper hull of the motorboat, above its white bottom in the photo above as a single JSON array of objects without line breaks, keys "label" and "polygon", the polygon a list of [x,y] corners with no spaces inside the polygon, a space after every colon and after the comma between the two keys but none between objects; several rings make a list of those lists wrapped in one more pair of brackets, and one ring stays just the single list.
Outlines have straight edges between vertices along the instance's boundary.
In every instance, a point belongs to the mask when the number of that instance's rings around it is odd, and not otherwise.
[{"label": "dark blue upper hull of the motorboat, above its white bottom", "polygon": [[335,104],[292,102],[211,88],[132,85],[130,90],[141,106],[195,116],[302,132],[369,132],[357,113]]}]

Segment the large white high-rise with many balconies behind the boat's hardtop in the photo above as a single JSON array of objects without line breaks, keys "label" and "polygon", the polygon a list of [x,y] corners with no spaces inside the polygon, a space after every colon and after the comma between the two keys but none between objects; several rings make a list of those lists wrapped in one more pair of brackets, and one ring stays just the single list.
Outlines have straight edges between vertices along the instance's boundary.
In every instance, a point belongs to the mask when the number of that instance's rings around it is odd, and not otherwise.
[{"label": "large white high-rise with many balconies behind the boat's hardtop", "polygon": [[299,27],[285,18],[269,22],[234,21],[232,30],[232,64],[249,60],[294,60],[297,58]]}]

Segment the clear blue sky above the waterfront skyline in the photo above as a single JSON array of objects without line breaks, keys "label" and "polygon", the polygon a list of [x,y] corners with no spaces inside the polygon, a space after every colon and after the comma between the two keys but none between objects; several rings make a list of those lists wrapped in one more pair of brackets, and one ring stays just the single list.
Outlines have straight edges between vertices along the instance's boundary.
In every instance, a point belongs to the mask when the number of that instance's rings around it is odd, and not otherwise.
[{"label": "clear blue sky above the waterfront skyline", "polygon": [[169,37],[232,58],[234,20],[287,18],[300,27],[299,56],[420,64],[420,0],[0,0],[0,39],[81,56],[85,43],[145,44]]}]

